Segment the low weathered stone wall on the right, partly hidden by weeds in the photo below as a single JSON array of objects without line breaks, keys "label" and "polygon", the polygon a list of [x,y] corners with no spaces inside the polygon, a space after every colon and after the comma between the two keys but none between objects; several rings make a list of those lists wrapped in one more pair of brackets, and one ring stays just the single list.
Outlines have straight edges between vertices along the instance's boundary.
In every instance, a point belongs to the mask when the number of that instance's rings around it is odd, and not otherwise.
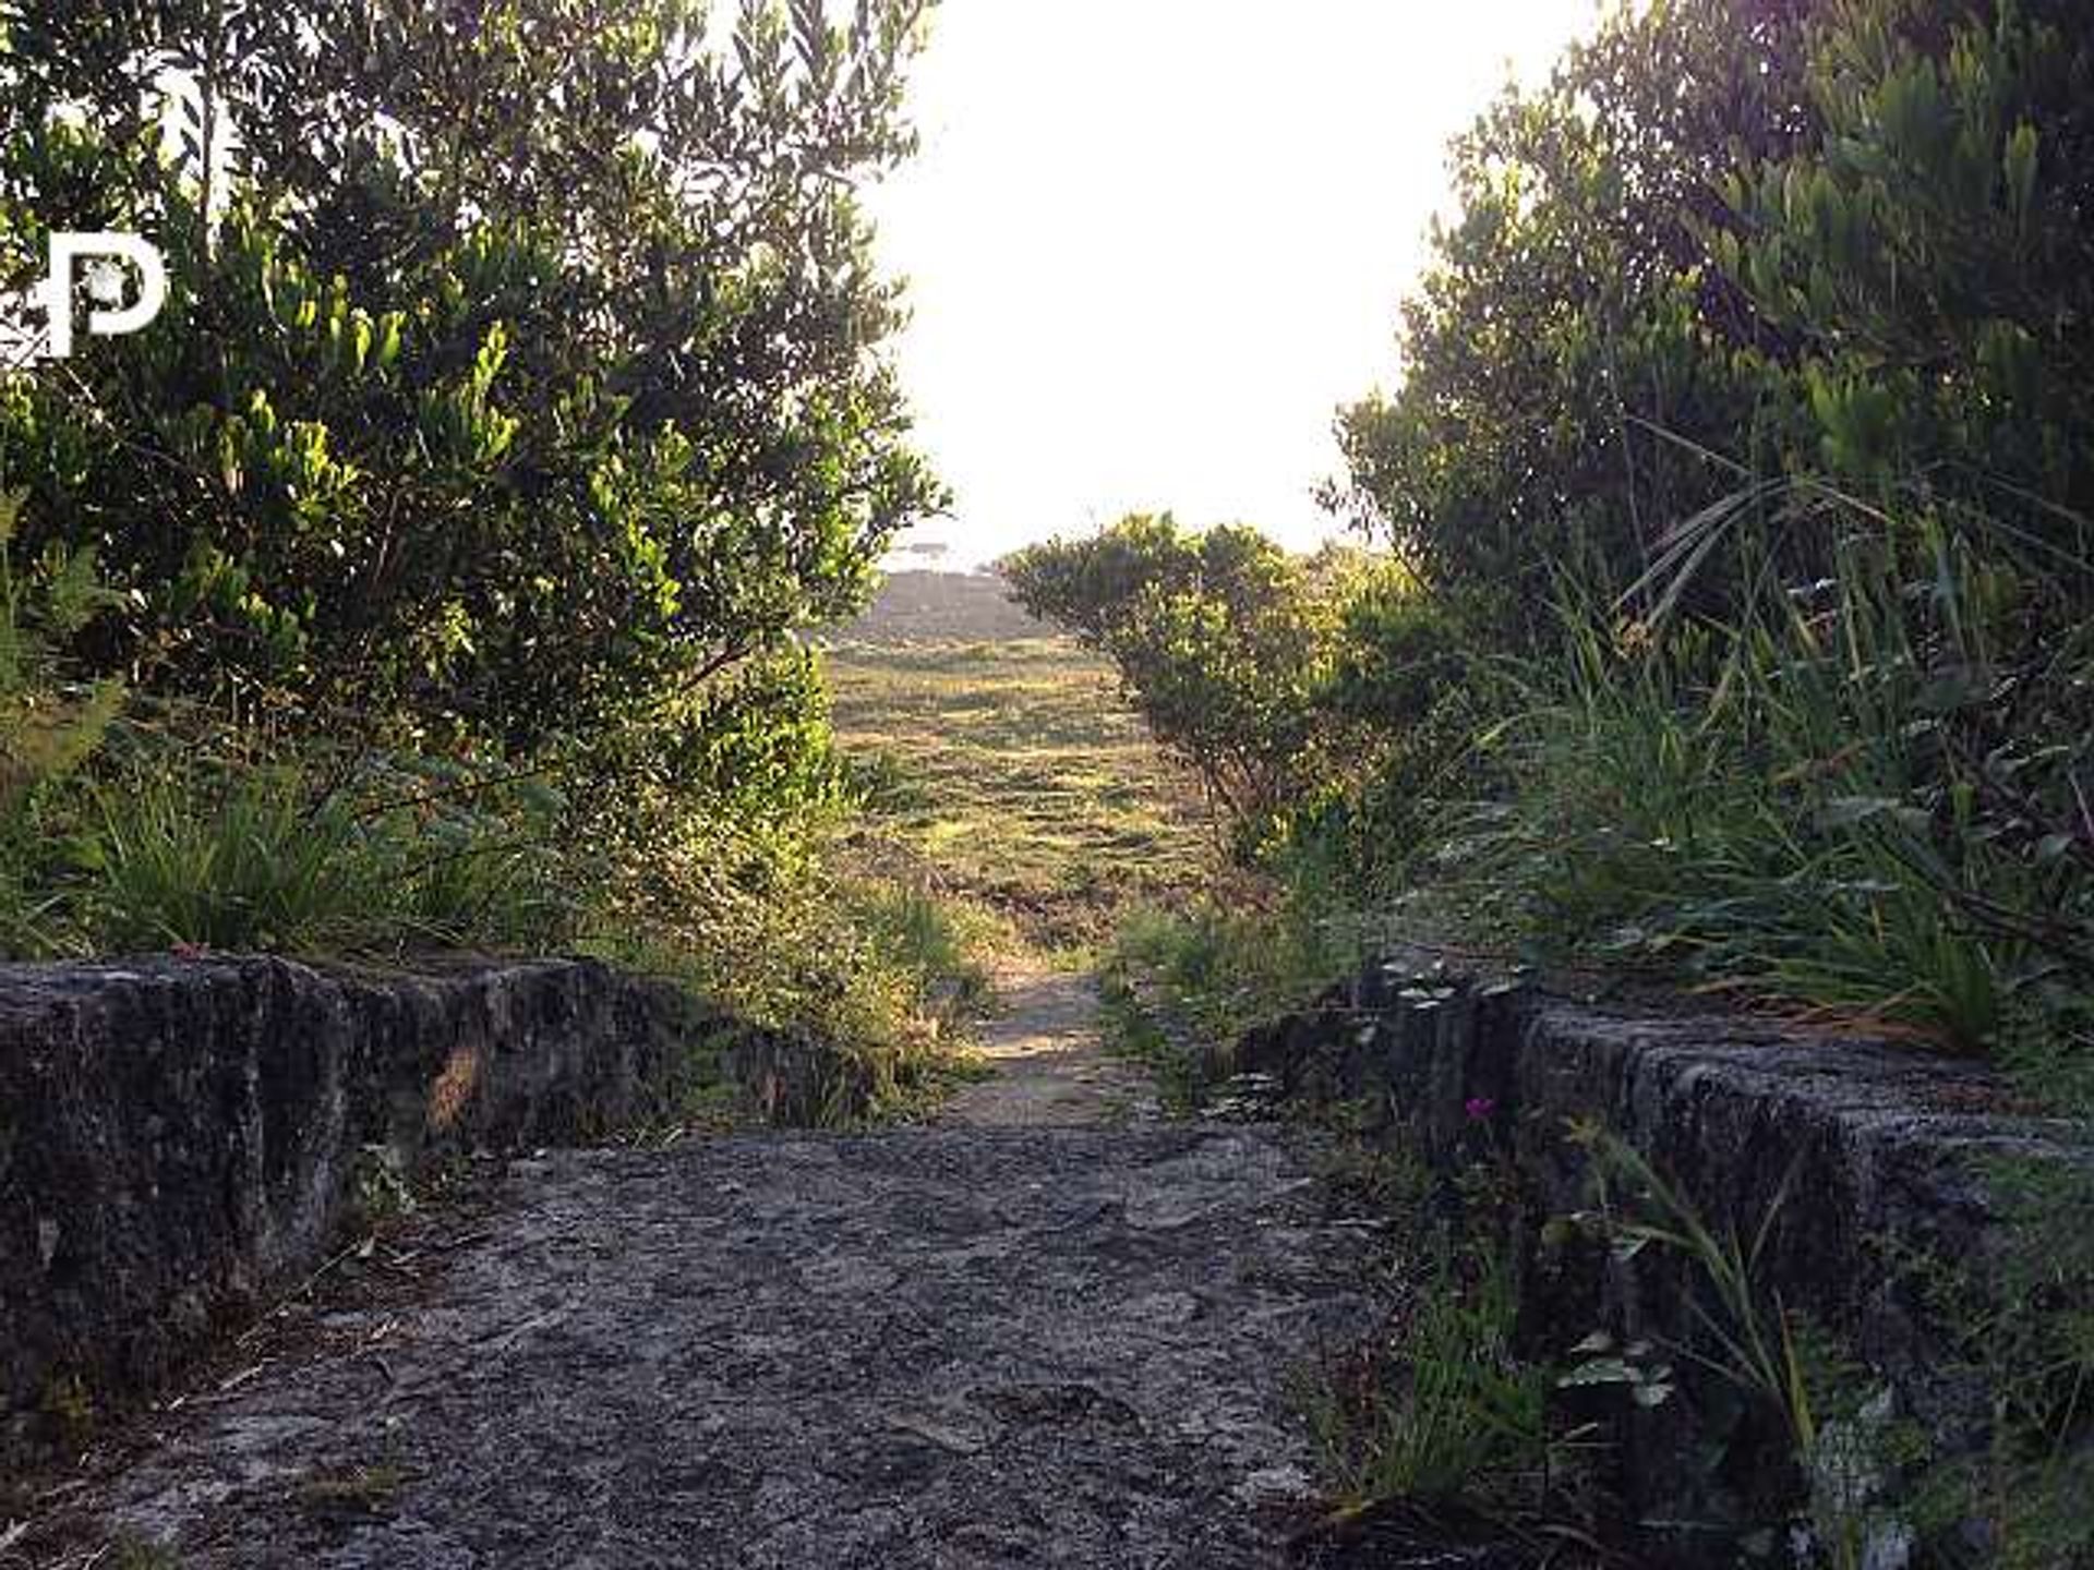
[{"label": "low weathered stone wall on the right, partly hidden by weeds", "polygon": [[[1594,1204],[1591,1158],[1566,1135],[1573,1122],[1602,1124],[1717,1237],[1753,1239],[1772,1216],[1757,1285],[1859,1359],[1853,1380],[1872,1396],[1870,1423],[1924,1434],[1937,1459],[1983,1440],[1989,1390],[1914,1266],[1947,1264],[1983,1289],[2008,1246],[1989,1183],[2000,1158],[2094,1164],[2084,1124],[2031,1116],[1968,1059],[1736,1013],[1581,1003],[1449,975],[1418,955],[1250,1032],[1215,1072],[1380,1107],[1443,1172],[1510,1162],[1531,1220]],[[1709,1346],[1688,1310],[1696,1271],[1681,1256],[1656,1248],[1625,1262],[1575,1233],[1564,1241],[1562,1227],[1550,1243],[1539,1231],[1527,1229],[1520,1260],[1535,1350],[1560,1359],[1596,1329],[1621,1342]],[[1614,1392],[1627,1511],[1748,1520],[1765,1505],[1755,1490],[1782,1482],[1767,1478],[1782,1436],[1738,1432],[1746,1419],[1723,1382],[1686,1384],[1681,1398],[1652,1411]],[[1876,1476],[1872,1486],[1876,1513],[1891,1522],[1889,1537],[1876,1532],[1872,1564],[1895,1566],[1906,1562],[1897,1480]],[[1681,1543],[1646,1547],[1690,1564],[1730,1562]]]}]

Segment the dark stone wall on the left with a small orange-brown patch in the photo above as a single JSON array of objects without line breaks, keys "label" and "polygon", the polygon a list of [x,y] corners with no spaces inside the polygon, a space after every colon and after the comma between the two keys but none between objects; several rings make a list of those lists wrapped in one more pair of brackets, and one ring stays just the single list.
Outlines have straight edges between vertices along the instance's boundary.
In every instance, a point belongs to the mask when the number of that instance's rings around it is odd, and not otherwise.
[{"label": "dark stone wall on the left with a small orange-brown patch", "polygon": [[0,965],[0,1457],[299,1279],[379,1166],[597,1139],[708,1091],[806,1122],[842,1074],[591,961]]}]

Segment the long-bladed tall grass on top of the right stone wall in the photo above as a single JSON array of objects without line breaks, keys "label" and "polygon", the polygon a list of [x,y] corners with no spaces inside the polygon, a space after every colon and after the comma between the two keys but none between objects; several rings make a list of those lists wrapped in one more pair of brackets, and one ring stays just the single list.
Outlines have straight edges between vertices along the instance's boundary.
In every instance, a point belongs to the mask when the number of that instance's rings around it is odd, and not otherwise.
[{"label": "long-bladed tall grass on top of the right stone wall", "polygon": [[1675,615],[1675,584],[1566,595],[1566,657],[1510,678],[1516,785],[1447,862],[1550,950],[1964,1051],[2033,1009],[2086,1047],[2094,597],[1857,507],[1828,578],[1765,569],[1730,622]]}]

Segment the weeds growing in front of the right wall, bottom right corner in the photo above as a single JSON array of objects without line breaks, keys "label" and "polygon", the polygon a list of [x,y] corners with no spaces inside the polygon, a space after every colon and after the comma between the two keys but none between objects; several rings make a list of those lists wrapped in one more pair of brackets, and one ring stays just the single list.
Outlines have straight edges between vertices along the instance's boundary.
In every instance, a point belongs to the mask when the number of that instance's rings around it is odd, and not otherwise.
[{"label": "weeds growing in front of the right wall, bottom right corner", "polygon": [[1989,1562],[2077,1564],[2094,1430],[2094,1181],[2081,1166],[1993,1162],[2002,1225],[1983,1271],[1931,1254],[1889,1260],[1954,1338],[1952,1367],[1989,1405],[1983,1444],[1933,1459],[1924,1434],[1866,1415],[1855,1400],[1864,1369],[1765,1285],[1761,1250],[1790,1202],[1786,1183],[1751,1239],[1719,1235],[1648,1158],[1596,1124],[1573,1137],[1591,1153],[1600,1193],[1600,1210],[1579,1220],[1598,1227],[1617,1260],[1652,1248],[1692,1269],[1696,1333],[1669,1350],[1776,1417],[1797,1467],[1797,1518],[1826,1562],[1868,1564],[1887,1534],[1918,1528],[1945,1541],[1983,1522]]}]

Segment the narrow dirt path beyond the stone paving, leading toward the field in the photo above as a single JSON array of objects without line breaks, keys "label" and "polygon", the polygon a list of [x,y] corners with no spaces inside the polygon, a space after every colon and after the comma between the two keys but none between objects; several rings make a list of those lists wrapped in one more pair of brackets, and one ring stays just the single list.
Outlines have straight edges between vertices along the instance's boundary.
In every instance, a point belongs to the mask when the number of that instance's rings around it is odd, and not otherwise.
[{"label": "narrow dirt path beyond the stone paving, leading toward the field", "polygon": [[997,975],[997,999],[1001,1009],[980,1032],[995,1074],[953,1097],[944,1122],[1041,1128],[1156,1118],[1154,1086],[1099,1040],[1089,975],[1011,965]]}]

